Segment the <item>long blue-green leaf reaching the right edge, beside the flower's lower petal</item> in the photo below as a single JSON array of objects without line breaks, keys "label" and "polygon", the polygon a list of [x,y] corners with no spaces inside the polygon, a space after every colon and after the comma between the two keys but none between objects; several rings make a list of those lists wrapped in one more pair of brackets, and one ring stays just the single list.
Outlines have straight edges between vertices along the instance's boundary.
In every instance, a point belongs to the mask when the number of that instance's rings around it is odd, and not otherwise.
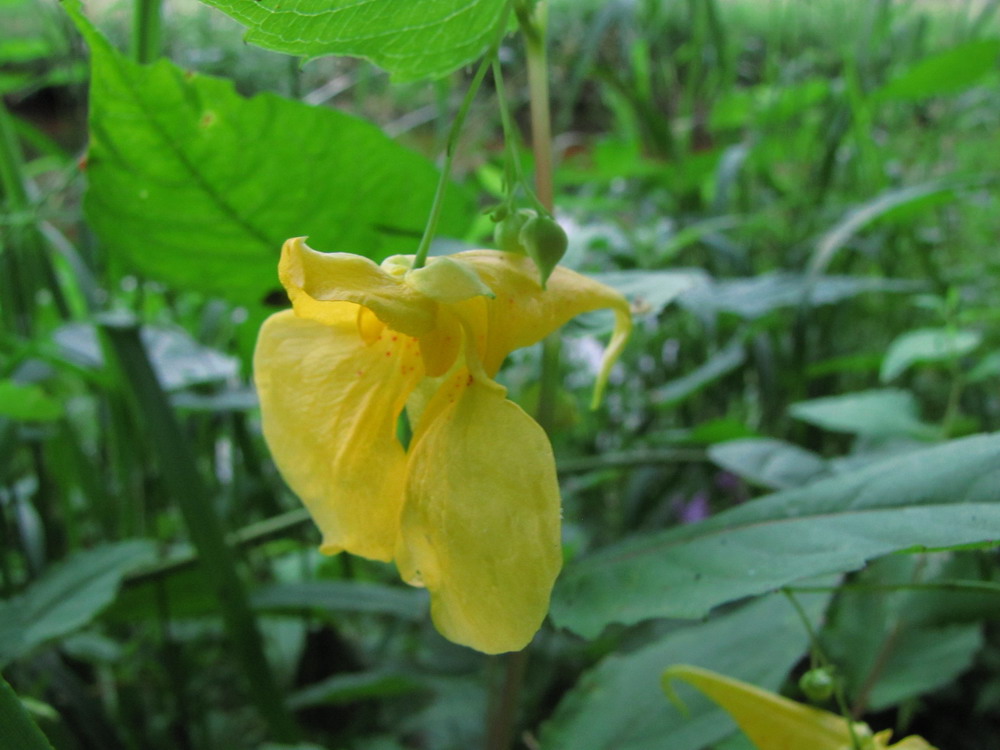
[{"label": "long blue-green leaf reaching the right edge, beside the flower's lower petal", "polygon": [[1000,435],[975,436],[581,558],[556,585],[552,617],[592,637],[612,622],[702,617],[891,552],[998,540]]}]

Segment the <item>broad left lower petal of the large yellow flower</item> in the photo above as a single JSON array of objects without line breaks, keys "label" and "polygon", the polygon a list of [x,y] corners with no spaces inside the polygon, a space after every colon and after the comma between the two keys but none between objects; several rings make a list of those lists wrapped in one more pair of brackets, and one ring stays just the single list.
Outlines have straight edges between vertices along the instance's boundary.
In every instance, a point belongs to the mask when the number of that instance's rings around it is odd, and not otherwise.
[{"label": "broad left lower petal of the large yellow flower", "polygon": [[406,457],[396,423],[423,376],[415,339],[383,329],[366,344],[358,306],[325,303],[327,324],[291,310],[254,352],[264,437],[323,532],[323,552],[392,558]]}]

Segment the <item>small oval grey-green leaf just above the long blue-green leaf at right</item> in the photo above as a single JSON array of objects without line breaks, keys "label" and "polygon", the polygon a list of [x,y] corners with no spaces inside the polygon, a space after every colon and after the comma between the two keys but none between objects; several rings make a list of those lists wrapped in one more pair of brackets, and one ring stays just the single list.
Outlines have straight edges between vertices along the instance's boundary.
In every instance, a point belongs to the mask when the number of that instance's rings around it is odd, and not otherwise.
[{"label": "small oval grey-green leaf just above the long blue-green leaf at right", "polygon": [[822,457],[774,438],[718,443],[708,449],[708,457],[749,482],[776,490],[799,487],[829,471]]}]

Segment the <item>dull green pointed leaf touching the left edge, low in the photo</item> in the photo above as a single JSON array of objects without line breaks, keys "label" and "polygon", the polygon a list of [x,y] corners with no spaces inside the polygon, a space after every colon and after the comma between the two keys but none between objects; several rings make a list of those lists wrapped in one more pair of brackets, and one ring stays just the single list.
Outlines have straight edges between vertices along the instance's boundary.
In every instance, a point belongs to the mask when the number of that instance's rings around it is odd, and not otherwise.
[{"label": "dull green pointed leaf touching the left edge, low in the photo", "polygon": [[143,539],[77,552],[0,601],[0,664],[90,623],[115,598],[125,574],[154,556],[153,543]]}]

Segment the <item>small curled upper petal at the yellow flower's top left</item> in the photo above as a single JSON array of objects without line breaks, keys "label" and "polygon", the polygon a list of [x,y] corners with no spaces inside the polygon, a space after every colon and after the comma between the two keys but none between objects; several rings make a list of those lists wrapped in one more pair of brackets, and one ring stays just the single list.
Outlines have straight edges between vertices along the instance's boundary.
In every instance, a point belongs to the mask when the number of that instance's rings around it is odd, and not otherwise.
[{"label": "small curled upper petal at the yellow flower's top left", "polygon": [[[304,237],[285,242],[278,277],[300,317],[319,323],[336,321],[330,302],[354,302],[371,310],[389,328],[420,336],[434,326],[436,303],[388,273],[377,263],[353,253],[319,253]],[[331,324],[334,324],[331,323]]]}]

